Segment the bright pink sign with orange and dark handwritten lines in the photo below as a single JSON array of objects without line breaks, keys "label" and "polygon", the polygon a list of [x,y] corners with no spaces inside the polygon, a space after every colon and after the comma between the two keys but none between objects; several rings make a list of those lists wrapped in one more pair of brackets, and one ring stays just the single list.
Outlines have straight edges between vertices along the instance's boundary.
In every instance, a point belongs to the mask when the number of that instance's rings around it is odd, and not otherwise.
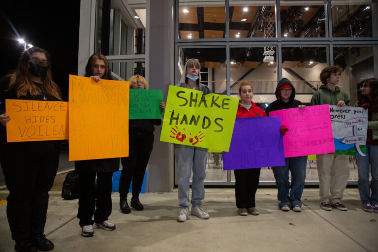
[{"label": "bright pink sign with orange and dark handwritten lines", "polygon": [[289,130],[284,136],[285,158],[335,152],[329,105],[269,112]]}]

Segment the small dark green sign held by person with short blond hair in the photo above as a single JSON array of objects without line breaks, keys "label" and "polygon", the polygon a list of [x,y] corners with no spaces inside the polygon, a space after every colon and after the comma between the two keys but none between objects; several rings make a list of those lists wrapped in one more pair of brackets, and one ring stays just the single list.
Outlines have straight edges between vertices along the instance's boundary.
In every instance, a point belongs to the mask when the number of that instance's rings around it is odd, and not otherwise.
[{"label": "small dark green sign held by person with short blond hair", "polygon": [[129,119],[160,119],[163,91],[130,89]]}]

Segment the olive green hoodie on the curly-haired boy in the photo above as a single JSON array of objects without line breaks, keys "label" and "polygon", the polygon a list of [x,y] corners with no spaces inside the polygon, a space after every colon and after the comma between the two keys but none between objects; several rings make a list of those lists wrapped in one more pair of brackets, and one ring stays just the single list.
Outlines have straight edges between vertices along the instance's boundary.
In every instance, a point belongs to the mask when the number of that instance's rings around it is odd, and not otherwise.
[{"label": "olive green hoodie on the curly-haired boy", "polygon": [[350,106],[349,95],[341,91],[339,87],[335,87],[335,91],[332,91],[326,85],[321,85],[311,98],[310,104],[311,106],[323,104],[337,105],[340,100],[343,100],[347,106]]}]

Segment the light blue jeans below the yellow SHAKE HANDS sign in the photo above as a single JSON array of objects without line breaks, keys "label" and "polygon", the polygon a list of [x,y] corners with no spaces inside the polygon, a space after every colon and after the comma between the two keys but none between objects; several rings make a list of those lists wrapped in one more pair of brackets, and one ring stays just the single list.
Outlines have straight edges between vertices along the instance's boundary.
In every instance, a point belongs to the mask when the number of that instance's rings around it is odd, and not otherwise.
[{"label": "light blue jeans below the yellow SHAKE HANDS sign", "polygon": [[208,149],[175,144],[175,167],[178,174],[179,206],[189,207],[189,180],[191,183],[191,206],[201,206],[205,198],[205,177]]}]

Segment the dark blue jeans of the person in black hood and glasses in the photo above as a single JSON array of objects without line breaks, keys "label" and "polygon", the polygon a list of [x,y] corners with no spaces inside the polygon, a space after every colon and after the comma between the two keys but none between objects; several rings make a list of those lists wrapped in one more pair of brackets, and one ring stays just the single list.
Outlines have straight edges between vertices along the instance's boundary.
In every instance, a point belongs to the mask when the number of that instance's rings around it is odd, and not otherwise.
[{"label": "dark blue jeans of the person in black hood and glasses", "polygon": [[[280,207],[302,206],[301,196],[305,187],[307,156],[285,158],[284,166],[273,167],[273,174],[278,189],[278,204]],[[289,170],[291,172],[291,190],[289,182]],[[289,192],[290,190],[290,192]]]}]

